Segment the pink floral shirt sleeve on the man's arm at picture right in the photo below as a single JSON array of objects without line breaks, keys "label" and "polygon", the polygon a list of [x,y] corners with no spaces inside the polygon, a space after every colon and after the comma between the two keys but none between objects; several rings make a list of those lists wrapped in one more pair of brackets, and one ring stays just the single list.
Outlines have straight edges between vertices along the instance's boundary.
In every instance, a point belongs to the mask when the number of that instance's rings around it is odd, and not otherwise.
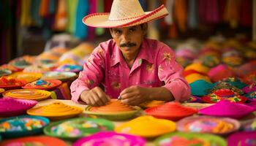
[{"label": "pink floral shirt sleeve on the man's arm at picture right", "polygon": [[164,45],[157,54],[159,80],[165,82],[163,87],[173,94],[176,101],[186,101],[190,96],[190,88],[183,77],[183,68],[175,60],[175,53]]}]

